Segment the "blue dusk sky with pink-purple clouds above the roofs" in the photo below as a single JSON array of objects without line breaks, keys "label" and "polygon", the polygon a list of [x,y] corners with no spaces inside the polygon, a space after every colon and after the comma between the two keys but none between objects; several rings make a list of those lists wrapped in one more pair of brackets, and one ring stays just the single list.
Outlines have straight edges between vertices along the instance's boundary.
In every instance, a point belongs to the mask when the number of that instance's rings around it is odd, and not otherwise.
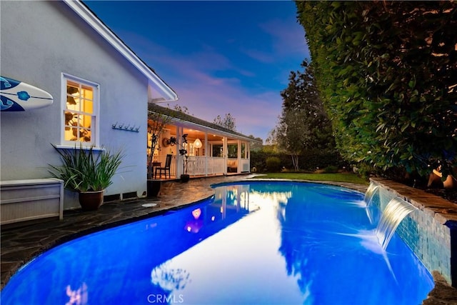
[{"label": "blue dusk sky with pink-purple clouds above the roofs", "polygon": [[[290,71],[309,58],[293,1],[84,1],[206,121],[263,140]],[[166,104],[164,104],[166,106]]]}]

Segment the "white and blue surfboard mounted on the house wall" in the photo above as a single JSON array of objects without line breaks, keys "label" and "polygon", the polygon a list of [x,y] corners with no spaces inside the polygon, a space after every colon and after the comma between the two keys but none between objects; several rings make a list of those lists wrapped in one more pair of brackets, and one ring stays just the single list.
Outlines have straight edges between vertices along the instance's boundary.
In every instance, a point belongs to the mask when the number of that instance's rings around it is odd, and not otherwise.
[{"label": "white and blue surfboard mounted on the house wall", "polygon": [[0,111],[26,111],[52,104],[48,92],[22,81],[0,76]]}]

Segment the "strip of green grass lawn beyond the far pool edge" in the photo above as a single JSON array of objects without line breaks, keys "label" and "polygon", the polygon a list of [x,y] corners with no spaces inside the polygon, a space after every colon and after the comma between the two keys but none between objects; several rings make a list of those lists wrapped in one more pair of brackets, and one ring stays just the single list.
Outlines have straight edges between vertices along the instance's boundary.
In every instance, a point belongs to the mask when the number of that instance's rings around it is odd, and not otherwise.
[{"label": "strip of green grass lawn beyond the far pool edge", "polygon": [[349,182],[353,184],[365,184],[370,182],[352,173],[338,174],[303,174],[303,173],[268,173],[263,176],[256,176],[253,179],[301,179],[312,181],[338,181]]}]

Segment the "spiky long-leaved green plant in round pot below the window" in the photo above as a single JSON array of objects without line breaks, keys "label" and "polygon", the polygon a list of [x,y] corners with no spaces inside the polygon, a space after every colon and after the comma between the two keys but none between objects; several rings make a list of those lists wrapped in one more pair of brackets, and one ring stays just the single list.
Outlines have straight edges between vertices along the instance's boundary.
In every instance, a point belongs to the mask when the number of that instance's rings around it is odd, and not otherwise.
[{"label": "spiky long-leaved green plant in round pot below the window", "polygon": [[61,156],[62,165],[49,165],[49,173],[54,178],[64,180],[64,187],[69,191],[79,193],[79,204],[84,211],[99,209],[103,203],[104,190],[113,182],[111,179],[116,174],[123,154],[118,151],[94,151],[94,146],[89,149],[54,149]]}]

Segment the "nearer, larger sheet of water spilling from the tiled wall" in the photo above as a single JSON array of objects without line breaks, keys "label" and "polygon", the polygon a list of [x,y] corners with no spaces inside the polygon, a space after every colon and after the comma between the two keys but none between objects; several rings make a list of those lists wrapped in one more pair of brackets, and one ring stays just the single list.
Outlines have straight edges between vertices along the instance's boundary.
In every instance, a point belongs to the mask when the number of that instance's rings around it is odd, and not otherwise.
[{"label": "nearer, larger sheet of water spilling from the tiled wall", "polygon": [[393,198],[388,202],[376,228],[376,236],[378,236],[379,244],[384,250],[387,249],[388,242],[401,221],[406,215],[415,210],[417,210],[415,206],[399,197]]}]

